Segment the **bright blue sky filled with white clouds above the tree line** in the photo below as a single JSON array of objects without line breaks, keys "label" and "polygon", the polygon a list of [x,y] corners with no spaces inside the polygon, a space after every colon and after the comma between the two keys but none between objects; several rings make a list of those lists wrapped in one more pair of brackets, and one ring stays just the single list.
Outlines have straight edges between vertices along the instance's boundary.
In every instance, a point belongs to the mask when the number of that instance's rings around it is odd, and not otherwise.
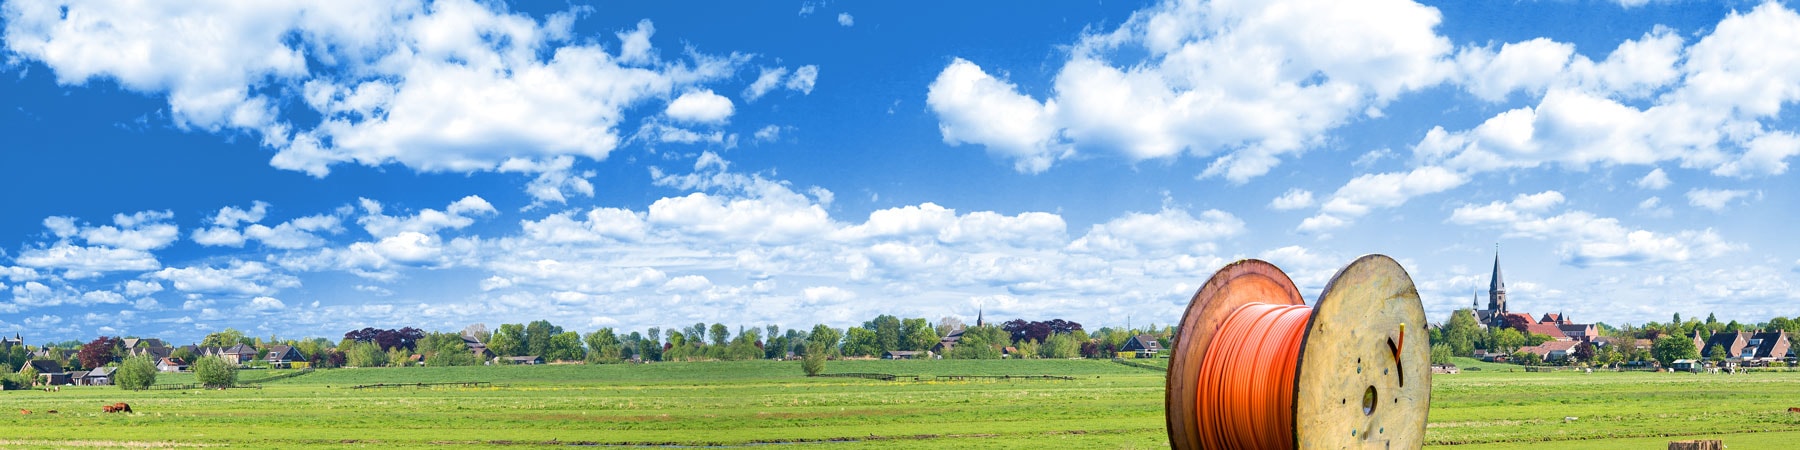
[{"label": "bright blue sky filled with white clouds above the tree line", "polygon": [[[1769,2],[0,5],[0,331],[1795,315]],[[1485,293],[1481,293],[1485,297]]]}]

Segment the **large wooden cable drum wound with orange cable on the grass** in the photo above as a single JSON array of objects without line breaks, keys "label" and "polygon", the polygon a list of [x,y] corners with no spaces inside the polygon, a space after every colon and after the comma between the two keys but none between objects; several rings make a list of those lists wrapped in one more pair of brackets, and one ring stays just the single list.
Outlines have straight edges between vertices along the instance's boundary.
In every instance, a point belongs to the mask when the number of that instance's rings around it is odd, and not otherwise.
[{"label": "large wooden cable drum wound with orange cable on the grass", "polygon": [[1172,448],[1420,448],[1431,342],[1411,275],[1350,263],[1309,308],[1274,265],[1244,259],[1181,317],[1163,407]]}]

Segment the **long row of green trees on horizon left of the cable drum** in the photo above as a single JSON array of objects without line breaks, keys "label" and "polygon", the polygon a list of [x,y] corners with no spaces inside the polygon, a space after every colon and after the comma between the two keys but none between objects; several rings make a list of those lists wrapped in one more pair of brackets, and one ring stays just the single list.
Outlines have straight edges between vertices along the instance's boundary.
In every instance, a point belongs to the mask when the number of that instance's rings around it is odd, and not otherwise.
[{"label": "long row of green trees on horizon left of the cable drum", "polygon": [[[949,333],[961,333],[949,351],[938,347]],[[754,360],[788,356],[882,356],[887,351],[940,351],[945,358],[1078,358],[1111,356],[1112,351],[1136,335],[1152,335],[1168,346],[1172,328],[1118,329],[1102,328],[1089,335],[1078,322],[1053,320],[1010,320],[999,326],[965,326],[954,317],[945,317],[932,324],[927,319],[900,319],[878,315],[860,326],[830,328],[824,324],[810,329],[779,326],[765,328],[727,328],[725,324],[697,322],[684,328],[648,328],[644,331],[619,331],[601,328],[590,333],[563,329],[549,320],[527,324],[500,324],[490,331],[482,324],[473,324],[457,331],[425,331],[418,328],[380,329],[364,328],[344,333],[344,338],[331,342],[326,338],[284,340],[277,337],[257,338],[238,329],[209,333],[200,347],[250,346],[257,349],[256,360],[247,365],[263,364],[270,347],[281,344],[301,353],[311,367],[403,367],[403,365],[479,365],[486,364],[477,356],[463,337],[486,342],[495,356],[542,356],[551,362],[675,362],[675,360]],[[68,346],[67,342],[61,346]],[[99,337],[81,344],[81,351],[65,367],[101,367],[121,365],[126,356],[121,337]],[[1008,347],[1012,351],[1008,353]],[[27,362],[27,349],[13,346],[0,349],[0,356],[18,369]],[[11,358],[18,353],[16,362]],[[54,355],[54,353],[52,353]],[[194,355],[189,347],[178,347],[171,356],[198,365],[203,355]],[[153,367],[155,364],[151,364]],[[227,364],[229,365],[229,364]],[[236,367],[232,367],[236,369]],[[153,374],[151,374],[153,376]]]}]

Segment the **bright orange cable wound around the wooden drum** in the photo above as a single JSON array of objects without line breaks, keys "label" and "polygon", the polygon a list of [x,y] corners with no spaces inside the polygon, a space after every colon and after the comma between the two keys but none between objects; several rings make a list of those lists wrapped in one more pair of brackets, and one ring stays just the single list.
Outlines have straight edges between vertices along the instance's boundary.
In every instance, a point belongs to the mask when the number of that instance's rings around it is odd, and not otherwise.
[{"label": "bright orange cable wound around the wooden drum", "polygon": [[1251,302],[1226,317],[1201,362],[1201,448],[1294,448],[1294,365],[1312,308]]}]

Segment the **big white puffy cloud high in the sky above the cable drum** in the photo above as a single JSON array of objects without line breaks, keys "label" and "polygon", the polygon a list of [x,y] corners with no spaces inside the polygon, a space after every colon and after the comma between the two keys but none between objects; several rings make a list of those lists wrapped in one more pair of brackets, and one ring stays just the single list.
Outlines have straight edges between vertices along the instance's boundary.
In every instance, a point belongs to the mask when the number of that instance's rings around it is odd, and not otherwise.
[{"label": "big white puffy cloud high in the sky above the cable drum", "polygon": [[1066,140],[1130,160],[1211,158],[1206,176],[1246,182],[1444,81],[1451,45],[1438,22],[1404,0],[1163,2],[1084,36],[1044,101],[965,59],[929,97],[941,97],[931,106],[945,142],[985,146],[1019,171],[1048,169],[1064,157],[1051,144]]}]

